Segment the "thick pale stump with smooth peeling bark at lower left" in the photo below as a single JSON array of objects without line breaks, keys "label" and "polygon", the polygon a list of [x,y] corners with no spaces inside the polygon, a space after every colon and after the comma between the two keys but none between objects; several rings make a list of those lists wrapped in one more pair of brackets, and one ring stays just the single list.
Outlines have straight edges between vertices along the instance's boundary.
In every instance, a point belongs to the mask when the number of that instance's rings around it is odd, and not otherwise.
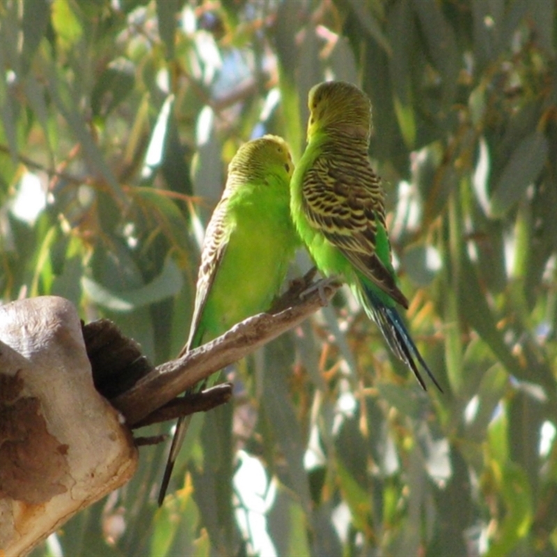
[{"label": "thick pale stump with smooth peeling bark at lower left", "polygon": [[26,554],[129,480],[132,436],[93,385],[74,306],[0,307],[0,549]]}]

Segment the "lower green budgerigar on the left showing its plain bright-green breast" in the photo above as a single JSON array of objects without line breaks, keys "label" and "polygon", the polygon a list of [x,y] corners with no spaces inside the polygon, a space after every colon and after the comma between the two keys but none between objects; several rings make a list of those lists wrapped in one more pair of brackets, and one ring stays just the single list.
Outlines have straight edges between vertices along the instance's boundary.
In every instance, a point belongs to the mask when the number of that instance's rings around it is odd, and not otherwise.
[{"label": "lower green budgerigar on the left showing its plain bright-green breast", "polygon": [[[194,314],[180,356],[271,306],[300,243],[290,219],[293,168],[288,145],[273,135],[244,143],[230,161],[226,187],[205,232]],[[178,420],[159,505],[188,423]]]}]

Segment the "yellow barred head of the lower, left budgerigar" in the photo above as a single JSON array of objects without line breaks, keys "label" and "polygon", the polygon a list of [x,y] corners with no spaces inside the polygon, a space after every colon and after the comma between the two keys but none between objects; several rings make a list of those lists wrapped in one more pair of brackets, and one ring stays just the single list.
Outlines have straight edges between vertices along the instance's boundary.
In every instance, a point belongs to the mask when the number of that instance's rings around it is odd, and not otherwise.
[{"label": "yellow barred head of the lower, left budgerigar", "polygon": [[288,185],[293,171],[288,143],[270,134],[244,143],[228,165],[229,180],[241,182],[265,181],[272,175]]}]

